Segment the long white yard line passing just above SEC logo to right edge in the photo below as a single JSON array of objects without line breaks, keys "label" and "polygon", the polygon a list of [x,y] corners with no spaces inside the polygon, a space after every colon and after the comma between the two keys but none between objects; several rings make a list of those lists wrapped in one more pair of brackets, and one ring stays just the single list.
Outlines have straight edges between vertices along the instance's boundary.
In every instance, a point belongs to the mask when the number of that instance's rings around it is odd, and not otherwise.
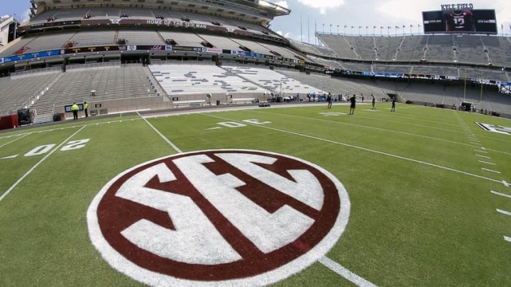
[{"label": "long white yard line passing just above SEC logo to right edge", "polygon": [[[233,121],[233,122],[238,122],[238,123],[241,123],[239,120],[233,120],[233,119],[229,119],[229,118],[222,118],[222,117],[219,117],[219,116],[211,116],[211,115],[207,115],[207,114],[204,114],[202,113],[202,115],[204,116],[208,116],[208,117],[211,117],[211,118],[221,118],[222,120],[230,120],[230,121]],[[476,177],[478,179],[484,179],[486,181],[492,181],[492,182],[498,182],[499,184],[502,184],[502,180],[498,180],[498,179],[490,179],[489,177],[486,177],[486,176],[480,176],[478,174],[471,174],[470,172],[467,172],[467,171],[460,171],[458,169],[452,169],[451,167],[444,167],[444,166],[441,166],[441,165],[438,165],[438,164],[432,164],[431,162],[423,162],[422,160],[419,160],[419,159],[410,159],[409,157],[402,157],[400,155],[397,155],[397,154],[390,154],[388,152],[381,152],[379,150],[372,150],[372,149],[369,149],[367,147],[359,147],[357,145],[350,145],[350,144],[347,144],[345,142],[336,142],[335,140],[328,140],[328,139],[325,139],[325,138],[322,138],[322,137],[316,137],[314,135],[305,135],[305,134],[302,134],[302,133],[296,133],[296,132],[292,132],[290,130],[281,130],[279,128],[271,128],[271,127],[268,127],[267,125],[254,125],[254,124],[251,124],[251,123],[246,123],[248,125],[253,125],[255,127],[258,127],[258,128],[265,128],[265,129],[268,129],[268,130],[275,130],[275,131],[278,131],[280,133],[287,133],[287,134],[290,134],[290,135],[297,135],[297,136],[300,136],[300,137],[307,137],[307,138],[311,138],[313,140],[320,140],[322,142],[329,142],[329,143],[332,143],[334,145],[343,145],[345,147],[353,147],[357,150],[363,150],[363,151],[366,151],[366,152],[372,152],[372,153],[375,153],[375,154],[382,154],[382,155],[385,155],[385,156],[388,156],[388,157],[395,157],[397,159],[402,159],[402,160],[406,160],[408,162],[415,162],[415,163],[418,163],[418,164],[424,164],[424,165],[427,165],[429,167],[436,167],[438,169],[444,169],[444,170],[447,170],[447,171],[453,171],[457,174],[464,174],[466,176],[472,176],[472,177]]]}]

